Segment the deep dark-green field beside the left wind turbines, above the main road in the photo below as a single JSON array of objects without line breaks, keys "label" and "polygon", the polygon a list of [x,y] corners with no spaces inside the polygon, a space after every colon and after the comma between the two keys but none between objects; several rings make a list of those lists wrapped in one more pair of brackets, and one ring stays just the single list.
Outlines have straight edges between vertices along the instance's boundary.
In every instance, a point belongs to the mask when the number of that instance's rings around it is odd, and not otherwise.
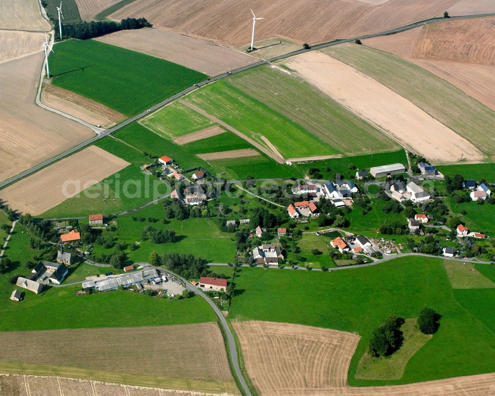
[{"label": "deep dark-green field beside the left wind turbines, above the main road", "polygon": [[52,84],[134,115],[206,78],[163,59],[100,43],[67,40],[50,54]]}]

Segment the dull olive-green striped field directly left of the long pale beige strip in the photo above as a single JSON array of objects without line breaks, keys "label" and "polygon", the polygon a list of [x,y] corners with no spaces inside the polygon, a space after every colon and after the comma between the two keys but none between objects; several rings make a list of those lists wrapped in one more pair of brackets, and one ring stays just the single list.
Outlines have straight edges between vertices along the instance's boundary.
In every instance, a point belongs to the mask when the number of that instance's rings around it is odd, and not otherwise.
[{"label": "dull olive-green striped field directly left of the long pale beige strip", "polygon": [[[346,155],[397,150],[399,146],[303,79],[274,68],[256,67],[228,79],[229,84],[298,123]],[[352,134],[352,139],[344,138]]]}]

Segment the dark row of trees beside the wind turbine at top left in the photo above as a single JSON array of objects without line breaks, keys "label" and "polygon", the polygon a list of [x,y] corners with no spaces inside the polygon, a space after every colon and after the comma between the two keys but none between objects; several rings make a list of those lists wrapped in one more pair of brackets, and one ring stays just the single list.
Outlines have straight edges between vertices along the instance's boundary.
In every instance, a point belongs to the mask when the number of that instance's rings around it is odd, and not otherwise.
[{"label": "dark row of trees beside the wind turbine at top left", "polygon": [[[51,21],[55,26],[58,25],[58,21]],[[118,22],[108,21],[91,21],[81,23],[68,23],[63,25],[62,38],[74,38],[80,40],[92,39],[94,37],[103,36],[105,34],[117,32],[119,30],[128,29],[141,29],[144,27],[151,27],[152,25],[146,20],[146,18],[126,18]],[[60,40],[58,29],[55,29],[56,39]]]}]

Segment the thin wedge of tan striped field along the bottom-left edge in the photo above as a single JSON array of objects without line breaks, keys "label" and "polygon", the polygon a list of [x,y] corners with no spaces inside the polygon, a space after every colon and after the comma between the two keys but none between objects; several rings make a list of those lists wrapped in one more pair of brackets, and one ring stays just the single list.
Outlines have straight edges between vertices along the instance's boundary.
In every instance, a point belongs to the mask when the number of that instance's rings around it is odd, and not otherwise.
[{"label": "thin wedge of tan striped field along the bottom-left edge", "polygon": [[75,378],[0,374],[2,396],[230,396]]}]

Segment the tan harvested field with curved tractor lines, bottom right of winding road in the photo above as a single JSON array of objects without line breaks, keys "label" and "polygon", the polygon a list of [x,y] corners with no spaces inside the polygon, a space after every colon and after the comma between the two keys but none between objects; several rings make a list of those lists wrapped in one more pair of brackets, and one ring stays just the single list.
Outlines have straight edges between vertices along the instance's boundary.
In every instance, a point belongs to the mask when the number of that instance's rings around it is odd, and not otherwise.
[{"label": "tan harvested field with curved tractor lines, bottom right of winding road", "polygon": [[247,373],[260,396],[488,396],[495,373],[387,387],[349,387],[359,336],[288,323],[234,322]]}]

